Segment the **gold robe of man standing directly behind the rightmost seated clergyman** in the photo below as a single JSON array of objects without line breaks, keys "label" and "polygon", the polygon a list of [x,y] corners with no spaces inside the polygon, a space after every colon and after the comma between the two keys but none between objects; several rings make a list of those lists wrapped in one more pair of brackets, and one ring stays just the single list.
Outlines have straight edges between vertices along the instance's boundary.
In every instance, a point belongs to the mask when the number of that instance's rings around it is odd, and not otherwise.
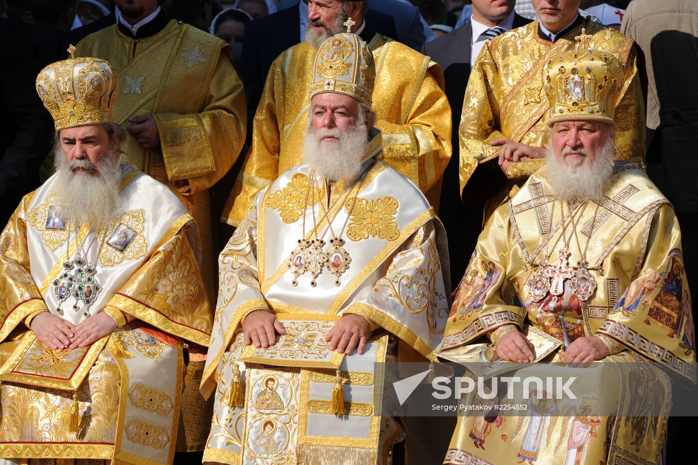
[{"label": "gold robe of man standing directly behind the rightmost seated clergyman", "polygon": [[537,20],[507,31],[482,47],[470,73],[459,126],[461,195],[466,205],[485,202],[485,219],[544,163],[542,158],[511,163],[502,182],[496,161],[488,163],[498,158],[500,147],[489,142],[510,138],[533,147],[547,145],[550,105],[542,88],[542,71],[550,59],[577,47],[575,37],[582,28],[591,35],[587,48],[610,53],[625,66],[614,115],[618,158],[645,153],[644,100],[632,39],[591,21],[555,43],[538,36]]}]

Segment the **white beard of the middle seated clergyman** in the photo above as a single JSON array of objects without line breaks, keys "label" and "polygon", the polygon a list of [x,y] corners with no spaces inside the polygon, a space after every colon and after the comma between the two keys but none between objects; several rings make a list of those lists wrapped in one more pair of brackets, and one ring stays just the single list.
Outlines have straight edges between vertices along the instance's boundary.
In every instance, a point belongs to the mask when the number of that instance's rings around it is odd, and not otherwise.
[{"label": "white beard of the middle seated clergyman", "polygon": [[[322,138],[332,135],[338,140],[322,141]],[[303,142],[303,153],[306,162],[310,163],[319,176],[330,182],[339,179],[353,180],[361,174],[361,165],[366,149],[369,147],[369,130],[364,122],[359,121],[342,132],[339,128],[320,128],[312,131],[308,126]]]}]

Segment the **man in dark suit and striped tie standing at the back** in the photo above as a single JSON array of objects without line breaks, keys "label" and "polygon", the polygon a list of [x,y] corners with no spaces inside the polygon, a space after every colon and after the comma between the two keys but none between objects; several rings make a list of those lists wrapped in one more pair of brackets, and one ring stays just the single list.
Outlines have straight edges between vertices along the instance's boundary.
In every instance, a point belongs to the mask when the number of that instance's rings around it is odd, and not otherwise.
[{"label": "man in dark suit and striped tie standing at the back", "polygon": [[[441,65],[446,82],[446,96],[451,105],[453,131],[451,140],[453,155],[443,175],[440,211],[441,221],[448,236],[448,249],[451,260],[451,282],[458,285],[468,265],[470,253],[475,249],[477,236],[482,226],[482,205],[468,205],[468,199],[461,202],[459,189],[459,140],[458,126],[461,121],[463,98],[470,77],[470,69],[485,41],[505,31],[524,26],[530,22],[514,12],[515,0],[473,0],[473,16],[463,27],[440,37],[422,47],[422,53],[429,55]],[[463,205],[466,203],[468,207]]]}]

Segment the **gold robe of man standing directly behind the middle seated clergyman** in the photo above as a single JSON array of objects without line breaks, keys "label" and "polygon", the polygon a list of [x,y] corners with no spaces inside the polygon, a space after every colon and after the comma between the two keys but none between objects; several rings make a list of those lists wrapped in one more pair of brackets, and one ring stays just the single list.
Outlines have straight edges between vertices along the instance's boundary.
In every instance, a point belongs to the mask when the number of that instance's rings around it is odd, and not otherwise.
[{"label": "gold robe of man standing directly behind the middle seated clergyman", "polygon": [[[376,63],[372,110],[383,132],[381,159],[419,186],[438,209],[441,176],[451,158],[450,106],[441,68],[379,34],[368,45]],[[272,63],[253,121],[252,145],[221,221],[238,226],[261,189],[302,163],[316,53],[303,42]]]}]

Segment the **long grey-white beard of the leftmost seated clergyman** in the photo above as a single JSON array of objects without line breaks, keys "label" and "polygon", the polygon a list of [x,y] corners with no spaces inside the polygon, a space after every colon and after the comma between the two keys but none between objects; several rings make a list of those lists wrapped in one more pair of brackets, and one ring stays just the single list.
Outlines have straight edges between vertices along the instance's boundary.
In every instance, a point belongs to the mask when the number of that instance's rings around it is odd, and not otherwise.
[{"label": "long grey-white beard of the leftmost seated clergyman", "polygon": [[[87,158],[66,161],[60,145],[54,148],[54,168],[58,191],[56,207],[68,220],[82,224],[108,226],[119,199],[121,156],[110,149],[95,167]],[[75,168],[96,170],[96,174],[75,171]]]}]

